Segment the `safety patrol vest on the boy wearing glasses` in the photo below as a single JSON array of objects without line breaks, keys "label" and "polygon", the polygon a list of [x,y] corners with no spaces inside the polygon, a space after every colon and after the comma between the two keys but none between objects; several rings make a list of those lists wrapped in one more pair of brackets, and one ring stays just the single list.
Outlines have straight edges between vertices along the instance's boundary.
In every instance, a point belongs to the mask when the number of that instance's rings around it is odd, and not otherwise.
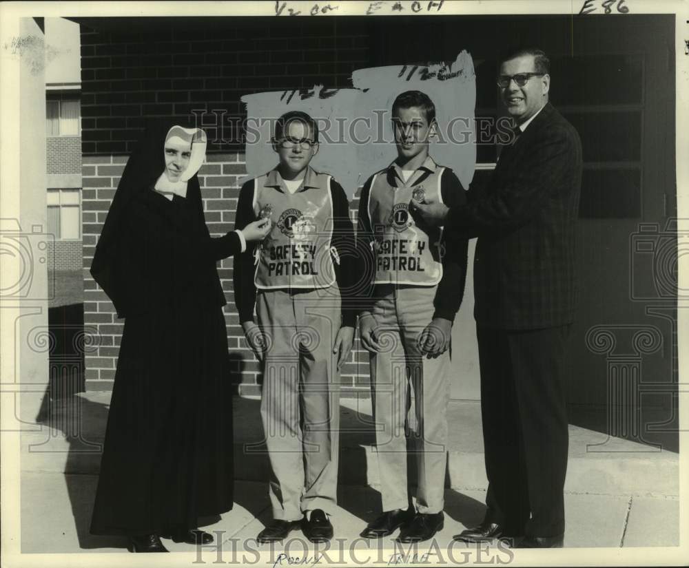
[{"label": "safety patrol vest on the boy wearing glasses", "polygon": [[294,193],[277,170],[254,180],[254,213],[269,216],[272,224],[256,249],[256,288],[327,288],[335,282],[331,179],[309,168]]}]

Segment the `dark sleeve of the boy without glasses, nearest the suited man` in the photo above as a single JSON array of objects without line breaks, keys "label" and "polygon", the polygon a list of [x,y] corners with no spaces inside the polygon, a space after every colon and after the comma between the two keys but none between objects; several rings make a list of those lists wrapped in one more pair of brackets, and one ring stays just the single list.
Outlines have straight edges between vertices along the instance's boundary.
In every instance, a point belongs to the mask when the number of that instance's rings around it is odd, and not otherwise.
[{"label": "dark sleeve of the boy without glasses, nearest the suited man", "polygon": [[[457,179],[451,169],[446,169],[442,174],[440,193],[443,202],[448,207],[461,207],[466,203],[466,191],[462,182]],[[466,283],[466,257],[469,241],[462,235],[443,231],[440,250],[442,257],[442,279],[435,292],[433,317],[442,317],[454,321],[457,311],[464,297],[464,284]]]}]

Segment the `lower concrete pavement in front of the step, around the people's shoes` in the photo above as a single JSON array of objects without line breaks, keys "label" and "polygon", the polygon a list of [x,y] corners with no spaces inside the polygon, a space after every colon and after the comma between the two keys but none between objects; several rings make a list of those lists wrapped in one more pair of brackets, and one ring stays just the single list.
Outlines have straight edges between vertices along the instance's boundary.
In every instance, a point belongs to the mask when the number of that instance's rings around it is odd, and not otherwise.
[{"label": "lower concrete pavement in front of the step, around the people's shoes", "polygon": [[[94,536],[89,534],[98,477],[94,475],[69,475],[57,472],[24,472],[21,476],[21,551],[23,554],[74,554],[74,553],[116,553],[124,552],[126,538],[121,536]],[[258,546],[258,532],[271,520],[271,507],[265,482],[236,481],[234,483],[235,503],[232,511],[222,518],[201,520],[205,530],[216,532],[225,543],[223,555],[218,558],[216,551],[209,549],[204,553],[205,563],[212,565],[216,560],[225,565],[242,562],[243,549],[258,549],[267,554],[275,550],[268,565],[274,565],[278,554],[283,550],[303,550],[307,547],[313,555],[317,545],[311,545],[300,531],[291,534],[294,540],[285,540],[275,549],[269,545]],[[457,492],[445,490],[444,529],[435,536],[433,550],[441,553],[446,562],[436,560],[442,565],[466,563],[462,556],[464,545],[452,543],[452,536],[466,527],[480,523],[485,513],[486,492],[466,490]],[[50,506],[46,506],[50,504]],[[380,512],[380,494],[371,487],[340,486],[338,508],[333,514],[336,540],[333,541],[333,562],[320,562],[321,566],[341,565],[337,549],[352,554],[349,565],[364,565],[364,559],[377,558],[377,549],[388,549],[382,561],[390,562],[391,551],[395,549],[391,536],[380,540],[362,541],[359,533],[366,523],[376,518]],[[679,545],[679,499],[663,497],[630,497],[610,495],[565,495],[564,546],[573,547],[677,547]],[[218,533],[219,532],[219,533]],[[230,540],[232,539],[232,540]],[[299,540],[297,540],[299,539]],[[165,546],[174,552],[194,552],[193,545],[173,543],[164,539]],[[238,554],[233,556],[231,543],[236,544]],[[356,544],[355,544],[356,543]],[[351,553],[356,546],[356,553]],[[289,547],[289,548],[288,548]],[[449,556],[448,549],[455,551]],[[320,546],[322,550],[322,545]],[[407,549],[407,546],[404,547]],[[429,543],[419,547],[420,552],[431,549]],[[657,554],[666,554],[660,551]],[[371,553],[371,554],[369,554]],[[296,552],[296,554],[299,554]],[[540,554],[540,552],[539,552]],[[562,554],[573,554],[567,551]],[[598,553],[599,554],[599,553]],[[648,552],[646,552],[648,554]],[[656,554],[656,556],[657,556]],[[293,555],[290,555],[293,556]],[[679,552],[677,552],[679,557]],[[131,558],[131,557],[130,557]],[[99,565],[129,565],[132,560],[99,560]],[[245,562],[251,563],[251,554]],[[346,558],[346,557],[345,557]],[[433,557],[431,557],[433,558]],[[484,556],[484,564],[488,562]],[[535,558],[535,557],[533,557]],[[563,556],[564,562],[573,559]],[[663,556],[665,561],[667,556]],[[195,556],[187,562],[193,565]],[[358,560],[357,560],[358,559]],[[463,559],[464,562],[462,562]],[[517,560],[522,560],[517,558]],[[539,558],[542,565],[543,559]],[[624,561],[624,559],[622,560]],[[105,564],[103,564],[105,562]],[[433,560],[431,560],[433,562]],[[430,562],[429,562],[430,563]],[[493,560],[495,563],[495,560]],[[500,563],[500,562],[499,562]],[[504,562],[503,562],[504,563]],[[280,562],[278,562],[280,564]],[[399,563],[397,563],[399,565]],[[679,562],[675,562],[679,565]],[[74,562],[71,565],[94,565],[92,562]],[[280,564],[286,566],[287,562]],[[407,565],[405,562],[404,565]],[[528,564],[527,564],[528,565]]]}]

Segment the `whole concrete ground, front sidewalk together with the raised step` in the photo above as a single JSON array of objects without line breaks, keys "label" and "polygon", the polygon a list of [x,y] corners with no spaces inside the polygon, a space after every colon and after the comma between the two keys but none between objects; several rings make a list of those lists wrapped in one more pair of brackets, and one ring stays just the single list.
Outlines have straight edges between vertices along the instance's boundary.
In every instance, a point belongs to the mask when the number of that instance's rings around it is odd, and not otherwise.
[{"label": "whole concrete ground, front sidewalk together with the raised step", "polygon": [[[23,432],[22,552],[123,551],[122,538],[88,534],[109,398],[110,393],[88,392],[56,402],[47,412],[50,427]],[[271,518],[258,404],[235,399],[236,503],[221,519],[206,520],[207,529],[223,531],[225,540],[255,538]],[[336,538],[353,540],[380,510],[374,425],[367,399],[343,400],[341,412],[340,509],[333,525]],[[445,526],[436,537],[442,548],[453,534],[479,522],[485,509],[479,404],[451,401],[449,422]],[[566,547],[679,545],[678,495],[677,454],[570,426]],[[393,547],[394,536],[387,547]],[[304,540],[300,532],[294,537]],[[170,540],[165,545],[194,550]]]}]

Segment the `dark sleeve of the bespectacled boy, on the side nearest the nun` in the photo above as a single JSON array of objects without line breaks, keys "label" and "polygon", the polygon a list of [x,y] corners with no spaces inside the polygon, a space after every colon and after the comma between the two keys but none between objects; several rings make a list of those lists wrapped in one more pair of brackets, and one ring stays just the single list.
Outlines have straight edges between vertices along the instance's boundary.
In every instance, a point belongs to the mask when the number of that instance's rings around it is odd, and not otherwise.
[{"label": "dark sleeve of the bespectacled boy, on the side nearest the nun", "polygon": [[[235,229],[244,229],[256,220],[254,214],[254,180],[246,182],[239,192]],[[236,235],[239,239],[238,235]],[[240,323],[254,321],[256,306],[256,285],[254,284],[254,252],[256,242],[247,242],[247,249],[234,257],[233,284],[234,303],[237,306]]]}]

